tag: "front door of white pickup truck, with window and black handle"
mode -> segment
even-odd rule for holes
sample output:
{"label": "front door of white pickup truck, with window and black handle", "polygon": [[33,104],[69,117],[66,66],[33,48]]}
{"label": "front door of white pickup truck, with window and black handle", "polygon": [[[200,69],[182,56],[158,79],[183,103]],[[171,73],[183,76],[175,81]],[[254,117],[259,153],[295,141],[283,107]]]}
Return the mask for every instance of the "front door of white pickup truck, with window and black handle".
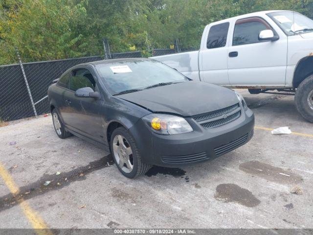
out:
{"label": "front door of white pickup truck, with window and black handle", "polygon": [[[261,41],[262,30],[271,29],[276,41]],[[228,78],[233,86],[284,86],[287,36],[278,34],[261,17],[237,20],[228,47]]]}

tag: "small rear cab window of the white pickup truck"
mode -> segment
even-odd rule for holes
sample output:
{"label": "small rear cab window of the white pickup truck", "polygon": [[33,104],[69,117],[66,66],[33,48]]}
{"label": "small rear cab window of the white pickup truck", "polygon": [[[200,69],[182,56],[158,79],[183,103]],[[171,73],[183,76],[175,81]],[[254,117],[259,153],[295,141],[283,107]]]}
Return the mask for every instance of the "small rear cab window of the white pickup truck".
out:
{"label": "small rear cab window of the white pickup truck", "polygon": [[209,36],[206,41],[208,49],[225,47],[229,23],[213,25],[209,30]]}

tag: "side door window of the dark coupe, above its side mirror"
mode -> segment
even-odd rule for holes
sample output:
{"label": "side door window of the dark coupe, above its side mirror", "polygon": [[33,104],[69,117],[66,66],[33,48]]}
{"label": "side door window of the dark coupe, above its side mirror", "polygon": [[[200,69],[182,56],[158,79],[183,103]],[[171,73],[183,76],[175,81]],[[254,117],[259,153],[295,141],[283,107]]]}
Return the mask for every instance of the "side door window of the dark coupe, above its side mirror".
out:
{"label": "side door window of the dark coupe, above its side mirror", "polygon": [[93,91],[95,91],[96,82],[93,76],[87,69],[74,70],[69,80],[69,90],[75,92],[83,87],[90,87]]}

